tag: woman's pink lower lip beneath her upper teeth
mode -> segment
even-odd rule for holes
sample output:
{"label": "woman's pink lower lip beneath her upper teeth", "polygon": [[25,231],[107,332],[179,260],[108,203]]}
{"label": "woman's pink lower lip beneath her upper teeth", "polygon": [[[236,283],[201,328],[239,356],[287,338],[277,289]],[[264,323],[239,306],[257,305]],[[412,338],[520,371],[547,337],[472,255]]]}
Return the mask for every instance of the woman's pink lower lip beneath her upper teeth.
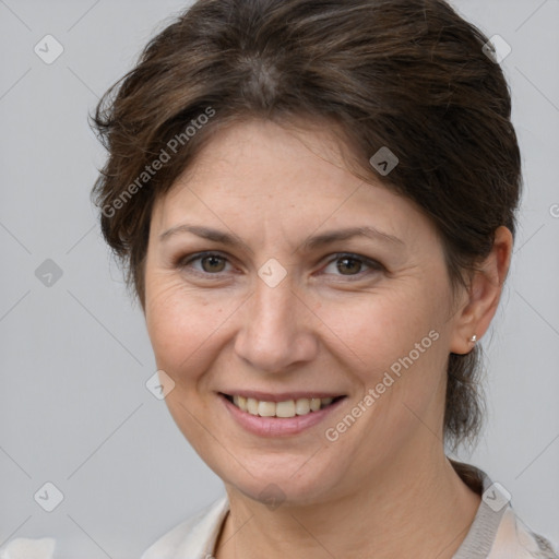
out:
{"label": "woman's pink lower lip beneath her upper teeth", "polygon": [[233,418],[242,428],[261,437],[297,435],[325,419],[345,400],[343,397],[318,412],[310,412],[306,415],[296,415],[295,417],[261,417],[243,412],[225,396],[219,395],[218,397],[225,404]]}

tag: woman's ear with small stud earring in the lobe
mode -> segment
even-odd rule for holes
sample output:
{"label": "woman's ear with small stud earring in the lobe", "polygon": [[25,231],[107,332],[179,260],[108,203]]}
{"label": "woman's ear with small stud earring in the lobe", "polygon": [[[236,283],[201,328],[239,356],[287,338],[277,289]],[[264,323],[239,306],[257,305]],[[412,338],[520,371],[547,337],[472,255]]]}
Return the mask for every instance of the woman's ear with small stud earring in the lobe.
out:
{"label": "woman's ear with small stud earring in the lobe", "polygon": [[502,286],[509,272],[512,234],[501,226],[495,231],[493,248],[473,273],[467,293],[454,314],[450,350],[467,354],[474,347],[472,336],[479,340],[489,328],[499,306]]}

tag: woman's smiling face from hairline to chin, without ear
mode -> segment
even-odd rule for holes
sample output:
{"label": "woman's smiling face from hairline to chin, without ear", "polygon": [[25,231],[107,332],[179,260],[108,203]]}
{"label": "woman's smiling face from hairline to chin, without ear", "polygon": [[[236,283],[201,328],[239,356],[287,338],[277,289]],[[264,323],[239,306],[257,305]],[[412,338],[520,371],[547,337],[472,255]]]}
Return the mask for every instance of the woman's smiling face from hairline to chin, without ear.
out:
{"label": "woman's smiling face from hairline to chin, without ear", "polygon": [[441,452],[452,300],[431,223],[348,173],[328,127],[222,130],[153,211],[145,316],[167,405],[254,499],[342,498]]}

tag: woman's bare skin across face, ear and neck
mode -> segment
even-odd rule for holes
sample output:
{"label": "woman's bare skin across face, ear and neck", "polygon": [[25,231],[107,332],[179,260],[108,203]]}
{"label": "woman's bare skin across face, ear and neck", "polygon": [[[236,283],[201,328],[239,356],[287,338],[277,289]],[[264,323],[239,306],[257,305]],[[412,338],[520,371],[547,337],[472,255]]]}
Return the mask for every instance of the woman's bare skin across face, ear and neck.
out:
{"label": "woman's bare skin across face, ear and neck", "polygon": [[[186,231],[160,238],[182,224],[245,246]],[[400,240],[302,248],[356,225]],[[444,455],[445,364],[489,326],[511,247],[499,228],[471,288],[454,293],[431,222],[380,181],[350,174],[331,127],[251,120],[211,140],[154,206],[144,310],[157,367],[176,383],[168,408],[227,490],[217,559],[452,557],[480,499]],[[186,263],[202,251],[225,260]],[[344,264],[340,252],[382,266]],[[275,287],[258,275],[271,258],[287,272]],[[437,341],[328,440],[325,429],[432,331]],[[236,424],[218,395],[242,389],[346,399],[301,433],[266,438]],[[270,484],[277,508],[266,506]]]}

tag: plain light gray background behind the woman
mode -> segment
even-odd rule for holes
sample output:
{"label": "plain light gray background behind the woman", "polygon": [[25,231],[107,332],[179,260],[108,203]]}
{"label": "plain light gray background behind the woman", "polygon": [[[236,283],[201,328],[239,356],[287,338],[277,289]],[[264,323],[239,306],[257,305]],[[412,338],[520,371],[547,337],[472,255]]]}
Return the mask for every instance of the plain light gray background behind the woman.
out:
{"label": "plain light gray background behind the woman", "polygon": [[[559,544],[559,1],[456,0],[512,46],[526,192],[500,311],[481,344],[489,415],[461,456]],[[104,152],[87,111],[183,1],[0,0],[0,544],[58,538],[58,556],[138,557],[222,493],[221,480],[145,388],[155,365],[141,311],[100,240],[90,190]],[[47,66],[45,35],[64,47]],[[555,214],[555,216],[554,216]],[[35,270],[52,259],[62,277]],[[64,500],[45,512],[34,493]]]}

